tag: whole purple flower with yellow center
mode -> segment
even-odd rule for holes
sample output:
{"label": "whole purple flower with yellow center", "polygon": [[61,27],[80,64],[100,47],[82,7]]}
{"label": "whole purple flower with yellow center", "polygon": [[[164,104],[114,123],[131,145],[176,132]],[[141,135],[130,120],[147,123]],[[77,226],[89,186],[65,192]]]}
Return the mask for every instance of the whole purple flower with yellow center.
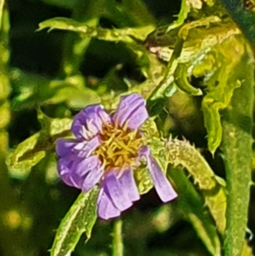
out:
{"label": "whole purple flower with yellow center", "polygon": [[101,105],[86,107],[71,128],[77,139],[57,140],[57,169],[62,181],[83,192],[99,183],[98,215],[103,219],[119,216],[140,199],[133,172],[141,158],[147,162],[161,200],[177,197],[143,139],[140,126],[147,118],[145,100],[133,93],[120,99],[113,114]]}

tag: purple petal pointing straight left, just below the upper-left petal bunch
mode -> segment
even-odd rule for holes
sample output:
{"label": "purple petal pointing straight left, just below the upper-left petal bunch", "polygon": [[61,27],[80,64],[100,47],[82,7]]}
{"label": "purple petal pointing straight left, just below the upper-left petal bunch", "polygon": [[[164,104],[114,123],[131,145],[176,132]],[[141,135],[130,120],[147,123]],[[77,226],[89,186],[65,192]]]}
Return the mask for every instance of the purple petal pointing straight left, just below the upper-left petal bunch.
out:
{"label": "purple petal pointing straight left, just below the upper-left petal bunch", "polygon": [[89,141],[58,139],[56,144],[57,154],[62,158],[74,160],[77,156],[89,156],[100,145],[96,136]]}

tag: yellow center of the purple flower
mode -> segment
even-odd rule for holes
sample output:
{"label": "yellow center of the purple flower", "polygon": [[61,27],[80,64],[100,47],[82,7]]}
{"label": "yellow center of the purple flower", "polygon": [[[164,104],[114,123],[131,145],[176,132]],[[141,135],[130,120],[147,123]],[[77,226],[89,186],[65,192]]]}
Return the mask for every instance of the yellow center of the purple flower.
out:
{"label": "yellow center of the purple flower", "polygon": [[138,151],[143,146],[138,130],[130,131],[115,124],[107,124],[103,126],[100,139],[101,145],[94,153],[99,156],[106,172],[135,167]]}

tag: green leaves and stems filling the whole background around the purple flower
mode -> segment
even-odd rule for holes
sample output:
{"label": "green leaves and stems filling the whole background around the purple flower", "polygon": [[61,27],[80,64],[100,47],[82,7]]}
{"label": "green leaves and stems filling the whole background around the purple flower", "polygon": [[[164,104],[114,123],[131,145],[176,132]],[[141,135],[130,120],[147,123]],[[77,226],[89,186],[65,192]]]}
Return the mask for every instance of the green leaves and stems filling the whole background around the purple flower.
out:
{"label": "green leaves and stems filling the whole background around the purple flower", "polygon": [[[27,2],[8,3],[10,27],[0,1],[0,254],[251,256],[254,65],[226,11],[211,0]],[[112,229],[96,222],[98,186],[77,197],[61,184],[55,142],[73,137],[79,110],[112,112],[133,92],[147,100],[141,132],[178,197],[159,206],[142,162],[134,176],[143,197]]]}

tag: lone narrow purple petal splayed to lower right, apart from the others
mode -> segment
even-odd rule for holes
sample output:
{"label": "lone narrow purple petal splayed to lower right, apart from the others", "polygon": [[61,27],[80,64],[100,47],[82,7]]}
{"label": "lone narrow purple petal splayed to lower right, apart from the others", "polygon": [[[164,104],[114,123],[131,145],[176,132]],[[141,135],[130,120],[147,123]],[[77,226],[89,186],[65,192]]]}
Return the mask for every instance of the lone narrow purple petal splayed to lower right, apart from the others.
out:
{"label": "lone narrow purple petal splayed to lower right, apart from the others", "polygon": [[173,190],[168,179],[164,175],[161,167],[157,163],[156,159],[150,153],[148,147],[143,147],[140,151],[140,154],[145,156],[147,160],[147,166],[150,171],[150,176],[152,177],[152,181],[156,188],[157,194],[163,202],[168,202],[170,200],[175,199],[177,197],[177,193]]}

